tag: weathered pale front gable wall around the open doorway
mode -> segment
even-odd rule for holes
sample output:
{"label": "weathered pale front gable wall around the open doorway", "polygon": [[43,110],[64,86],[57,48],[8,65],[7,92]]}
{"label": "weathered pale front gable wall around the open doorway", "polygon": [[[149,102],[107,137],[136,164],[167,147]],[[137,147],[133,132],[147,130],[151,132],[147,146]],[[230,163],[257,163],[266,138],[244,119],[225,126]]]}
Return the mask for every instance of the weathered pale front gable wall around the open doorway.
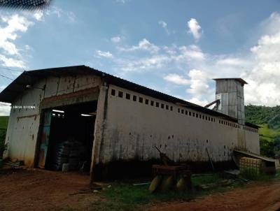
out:
{"label": "weathered pale front gable wall around the open doorway", "polygon": [[[8,151],[5,157],[25,161],[25,165],[34,165],[36,151],[36,141],[41,115],[41,102],[54,96],[64,96],[65,94],[78,93],[92,87],[99,87],[100,78],[93,75],[77,75],[76,77],[49,77],[42,79],[33,87],[44,87],[42,89],[26,89],[12,106],[35,106],[34,109],[10,110],[6,143]],[[79,99],[79,102],[89,99]],[[69,101],[73,103],[73,101]]]}

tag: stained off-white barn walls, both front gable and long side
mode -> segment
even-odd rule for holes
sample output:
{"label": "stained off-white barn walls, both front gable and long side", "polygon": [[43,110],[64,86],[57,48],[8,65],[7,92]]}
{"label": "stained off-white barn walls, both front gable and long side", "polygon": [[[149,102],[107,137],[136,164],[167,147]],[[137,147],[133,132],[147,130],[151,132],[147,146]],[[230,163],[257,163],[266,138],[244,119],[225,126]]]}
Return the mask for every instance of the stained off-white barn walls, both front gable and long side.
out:
{"label": "stained off-white barn walls, both front gable and long side", "polygon": [[[41,89],[28,89],[18,96],[13,106],[35,105],[36,109],[11,110],[6,136],[6,143],[9,145],[6,157],[23,160],[27,166],[33,165],[41,115],[39,106],[44,98],[97,86],[100,87],[100,94],[94,131],[94,163],[106,163],[113,159],[158,159],[159,154],[153,148],[155,145],[161,146],[162,152],[167,153],[174,161],[208,161],[205,147],[214,161],[228,161],[231,159],[230,150],[240,145],[237,137],[241,132],[245,133],[244,140],[248,150],[260,152],[258,133],[244,130],[243,126],[240,129],[227,126],[219,123],[219,120],[225,119],[211,117],[114,85],[109,86],[106,99],[108,87],[101,84],[101,79],[92,75],[60,79],[49,77],[34,85],[46,85],[45,93]],[[112,88],[116,89],[116,96],[111,96]],[[123,92],[123,98],[118,97],[118,91]],[[126,93],[130,94],[130,100],[125,98]],[[132,100],[133,95],[137,96],[137,101]],[[139,103],[139,97],[143,98],[143,103]],[[153,106],[151,101],[154,101]],[[160,103],[159,108],[156,107],[157,102]],[[161,108],[162,104],[165,108]],[[169,106],[168,110],[166,106]],[[170,110],[171,106],[173,110]],[[185,114],[186,110],[188,115]],[[192,113],[191,116],[189,112]],[[36,118],[31,115],[36,115]],[[214,118],[215,122],[206,120],[206,117]]]}

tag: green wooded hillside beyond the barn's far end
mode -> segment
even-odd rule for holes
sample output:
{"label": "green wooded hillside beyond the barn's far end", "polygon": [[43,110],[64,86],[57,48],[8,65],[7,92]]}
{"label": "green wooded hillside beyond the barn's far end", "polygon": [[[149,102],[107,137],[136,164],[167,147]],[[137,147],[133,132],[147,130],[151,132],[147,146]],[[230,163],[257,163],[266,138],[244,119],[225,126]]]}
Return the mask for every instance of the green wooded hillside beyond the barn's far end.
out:
{"label": "green wooded hillside beyond the barn's far end", "polygon": [[280,106],[245,106],[245,117],[260,126],[260,154],[280,157]]}

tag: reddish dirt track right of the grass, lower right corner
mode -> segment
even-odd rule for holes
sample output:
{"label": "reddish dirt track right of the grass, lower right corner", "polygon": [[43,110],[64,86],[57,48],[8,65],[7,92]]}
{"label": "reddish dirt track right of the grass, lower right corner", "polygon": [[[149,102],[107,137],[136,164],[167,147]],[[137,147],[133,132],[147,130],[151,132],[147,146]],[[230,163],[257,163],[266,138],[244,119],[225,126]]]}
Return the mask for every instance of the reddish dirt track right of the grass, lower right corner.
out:
{"label": "reddish dirt track right of the grass, lower right corner", "polygon": [[190,202],[158,203],[149,211],[276,211],[280,210],[280,182],[254,182],[246,188],[197,198]]}

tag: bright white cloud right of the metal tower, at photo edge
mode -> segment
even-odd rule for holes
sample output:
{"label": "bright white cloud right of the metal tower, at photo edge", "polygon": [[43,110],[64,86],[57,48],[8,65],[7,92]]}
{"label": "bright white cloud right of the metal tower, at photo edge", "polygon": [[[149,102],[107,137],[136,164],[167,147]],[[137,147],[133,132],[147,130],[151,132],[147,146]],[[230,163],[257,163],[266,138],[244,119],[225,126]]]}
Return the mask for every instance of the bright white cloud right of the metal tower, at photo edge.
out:
{"label": "bright white cloud right of the metal tower, at photo edge", "polygon": [[280,105],[280,14],[272,13],[265,22],[265,33],[251,48],[253,65],[241,76],[248,82],[247,103],[275,106]]}

